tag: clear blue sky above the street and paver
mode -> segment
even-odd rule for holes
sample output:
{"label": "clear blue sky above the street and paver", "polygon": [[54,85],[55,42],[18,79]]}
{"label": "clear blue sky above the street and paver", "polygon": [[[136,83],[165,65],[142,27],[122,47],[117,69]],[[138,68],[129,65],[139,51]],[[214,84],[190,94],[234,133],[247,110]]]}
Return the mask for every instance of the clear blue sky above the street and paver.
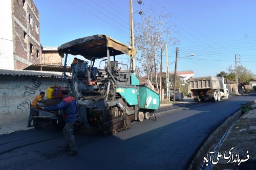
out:
{"label": "clear blue sky above the street and paver", "polygon": [[[33,0],[40,14],[42,46],[60,46],[76,38],[106,34],[129,44],[129,0]],[[239,0],[133,0],[134,20],[138,11],[153,7],[159,13],[170,13],[173,36],[180,44],[168,46],[168,62],[177,70],[193,70],[195,77],[215,76],[234,65],[246,66],[256,74],[256,1]],[[147,15],[145,13],[145,15]],[[165,56],[165,54],[164,54]],[[71,59],[69,60],[71,62]],[[165,59],[163,60],[165,71]],[[139,65],[136,62],[136,65]],[[174,71],[174,64],[169,71]]]}

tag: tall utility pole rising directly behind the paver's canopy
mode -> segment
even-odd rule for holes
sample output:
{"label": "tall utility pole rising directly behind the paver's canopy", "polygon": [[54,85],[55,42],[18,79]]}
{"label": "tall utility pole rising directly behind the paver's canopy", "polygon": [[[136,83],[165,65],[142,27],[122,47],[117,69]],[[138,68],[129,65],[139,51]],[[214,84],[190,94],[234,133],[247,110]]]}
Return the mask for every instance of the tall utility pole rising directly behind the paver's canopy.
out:
{"label": "tall utility pole rising directly behind the paver's canopy", "polygon": [[[129,0],[129,13],[130,13],[130,45],[134,47],[134,31],[133,31],[133,0]],[[131,58],[132,69],[135,75],[135,58]]]}

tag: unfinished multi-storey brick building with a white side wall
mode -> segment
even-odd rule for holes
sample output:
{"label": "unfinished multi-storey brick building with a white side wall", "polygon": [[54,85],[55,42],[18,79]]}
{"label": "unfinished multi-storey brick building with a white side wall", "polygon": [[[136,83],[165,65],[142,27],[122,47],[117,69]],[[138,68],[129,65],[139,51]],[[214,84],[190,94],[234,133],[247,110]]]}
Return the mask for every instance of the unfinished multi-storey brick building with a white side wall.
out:
{"label": "unfinished multi-storey brick building with a white side wall", "polygon": [[39,12],[32,0],[0,1],[0,68],[41,63]]}

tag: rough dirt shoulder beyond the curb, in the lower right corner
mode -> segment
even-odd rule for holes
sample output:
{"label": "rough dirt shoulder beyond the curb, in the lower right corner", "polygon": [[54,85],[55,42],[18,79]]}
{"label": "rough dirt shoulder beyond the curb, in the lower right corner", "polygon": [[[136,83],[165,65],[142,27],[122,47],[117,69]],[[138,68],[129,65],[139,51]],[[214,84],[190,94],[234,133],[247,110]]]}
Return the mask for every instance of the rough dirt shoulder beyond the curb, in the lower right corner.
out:
{"label": "rough dirt shoulder beyond the curb, in the lower right corner", "polygon": [[243,109],[250,110],[240,117],[224,138],[219,151],[216,151],[222,156],[219,161],[216,156],[214,162],[217,163],[212,170],[256,169],[256,104],[249,103]]}

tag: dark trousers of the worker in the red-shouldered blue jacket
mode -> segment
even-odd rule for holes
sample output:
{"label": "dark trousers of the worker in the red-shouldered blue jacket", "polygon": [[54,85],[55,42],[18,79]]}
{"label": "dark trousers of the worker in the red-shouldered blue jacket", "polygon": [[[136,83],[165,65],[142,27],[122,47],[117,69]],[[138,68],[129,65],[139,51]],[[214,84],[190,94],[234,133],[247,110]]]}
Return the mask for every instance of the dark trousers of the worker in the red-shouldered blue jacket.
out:
{"label": "dark trousers of the worker in the red-shouldered blue jacket", "polygon": [[73,134],[74,124],[75,124],[75,122],[66,123],[65,127],[63,128],[64,138],[66,139],[67,143],[69,144],[70,150],[72,152],[77,151],[75,138],[74,138],[74,134]]}

